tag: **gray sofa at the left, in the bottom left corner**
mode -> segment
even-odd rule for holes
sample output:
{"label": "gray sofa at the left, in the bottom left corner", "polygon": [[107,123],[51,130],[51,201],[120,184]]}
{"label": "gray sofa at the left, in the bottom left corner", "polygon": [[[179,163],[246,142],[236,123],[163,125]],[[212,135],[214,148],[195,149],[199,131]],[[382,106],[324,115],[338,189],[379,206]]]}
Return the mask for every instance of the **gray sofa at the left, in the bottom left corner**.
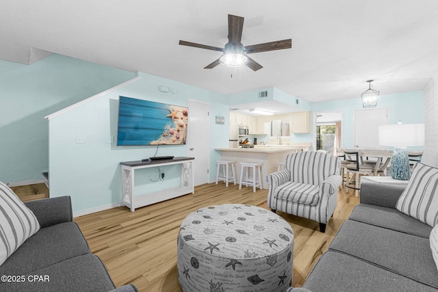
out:
{"label": "gray sofa at the left, in the bottom left corner", "polygon": [[0,291],[138,291],[133,285],[116,289],[73,222],[70,197],[25,205],[36,215],[40,230],[0,266]]}

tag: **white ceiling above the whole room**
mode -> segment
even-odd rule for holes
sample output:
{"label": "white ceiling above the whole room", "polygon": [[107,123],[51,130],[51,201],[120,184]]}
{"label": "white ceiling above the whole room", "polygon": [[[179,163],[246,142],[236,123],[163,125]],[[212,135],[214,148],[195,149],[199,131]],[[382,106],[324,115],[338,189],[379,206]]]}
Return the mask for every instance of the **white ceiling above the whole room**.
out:
{"label": "white ceiling above the whole room", "polygon": [[[274,87],[309,102],[423,90],[438,70],[437,0],[0,0],[0,59],[48,53],[235,94]],[[245,45],[292,38],[250,55],[264,68],[203,69],[227,43],[227,14]],[[233,77],[231,78],[231,74]]]}

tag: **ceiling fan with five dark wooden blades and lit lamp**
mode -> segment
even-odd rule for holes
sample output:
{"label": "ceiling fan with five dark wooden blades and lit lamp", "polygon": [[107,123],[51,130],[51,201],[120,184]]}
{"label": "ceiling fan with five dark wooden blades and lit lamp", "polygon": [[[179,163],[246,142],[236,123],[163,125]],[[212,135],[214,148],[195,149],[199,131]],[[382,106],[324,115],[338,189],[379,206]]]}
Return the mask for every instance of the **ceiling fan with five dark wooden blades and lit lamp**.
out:
{"label": "ceiling fan with five dark wooden blades and lit lamp", "polygon": [[222,57],[205,66],[204,69],[211,69],[219,64],[232,67],[245,64],[248,68],[254,71],[263,68],[263,66],[248,57],[248,54],[292,48],[292,39],[290,38],[288,40],[277,40],[275,42],[265,42],[263,44],[253,44],[244,47],[241,42],[243,27],[243,17],[228,14],[228,43],[225,44],[224,49],[207,46],[205,44],[196,44],[195,42],[186,42],[185,40],[179,40],[179,44],[224,53]]}

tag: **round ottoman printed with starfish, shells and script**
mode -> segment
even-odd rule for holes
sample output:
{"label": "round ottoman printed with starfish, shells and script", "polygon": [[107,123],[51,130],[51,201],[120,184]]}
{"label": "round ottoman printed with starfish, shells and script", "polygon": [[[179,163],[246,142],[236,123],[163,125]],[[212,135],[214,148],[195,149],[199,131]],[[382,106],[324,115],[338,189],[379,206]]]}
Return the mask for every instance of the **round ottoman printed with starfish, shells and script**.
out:
{"label": "round ottoman printed with starfish, shells and script", "polygon": [[178,235],[178,280],[185,292],[286,291],[294,232],[267,209],[222,204],[198,209]]}

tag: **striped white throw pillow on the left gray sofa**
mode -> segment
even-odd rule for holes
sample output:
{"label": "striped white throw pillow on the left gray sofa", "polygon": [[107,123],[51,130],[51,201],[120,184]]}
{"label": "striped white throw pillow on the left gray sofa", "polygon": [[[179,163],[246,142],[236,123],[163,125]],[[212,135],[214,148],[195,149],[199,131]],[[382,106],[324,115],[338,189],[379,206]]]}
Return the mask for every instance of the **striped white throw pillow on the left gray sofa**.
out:
{"label": "striped white throw pillow on the left gray sofa", "polygon": [[0,265],[38,230],[34,213],[0,182]]}

